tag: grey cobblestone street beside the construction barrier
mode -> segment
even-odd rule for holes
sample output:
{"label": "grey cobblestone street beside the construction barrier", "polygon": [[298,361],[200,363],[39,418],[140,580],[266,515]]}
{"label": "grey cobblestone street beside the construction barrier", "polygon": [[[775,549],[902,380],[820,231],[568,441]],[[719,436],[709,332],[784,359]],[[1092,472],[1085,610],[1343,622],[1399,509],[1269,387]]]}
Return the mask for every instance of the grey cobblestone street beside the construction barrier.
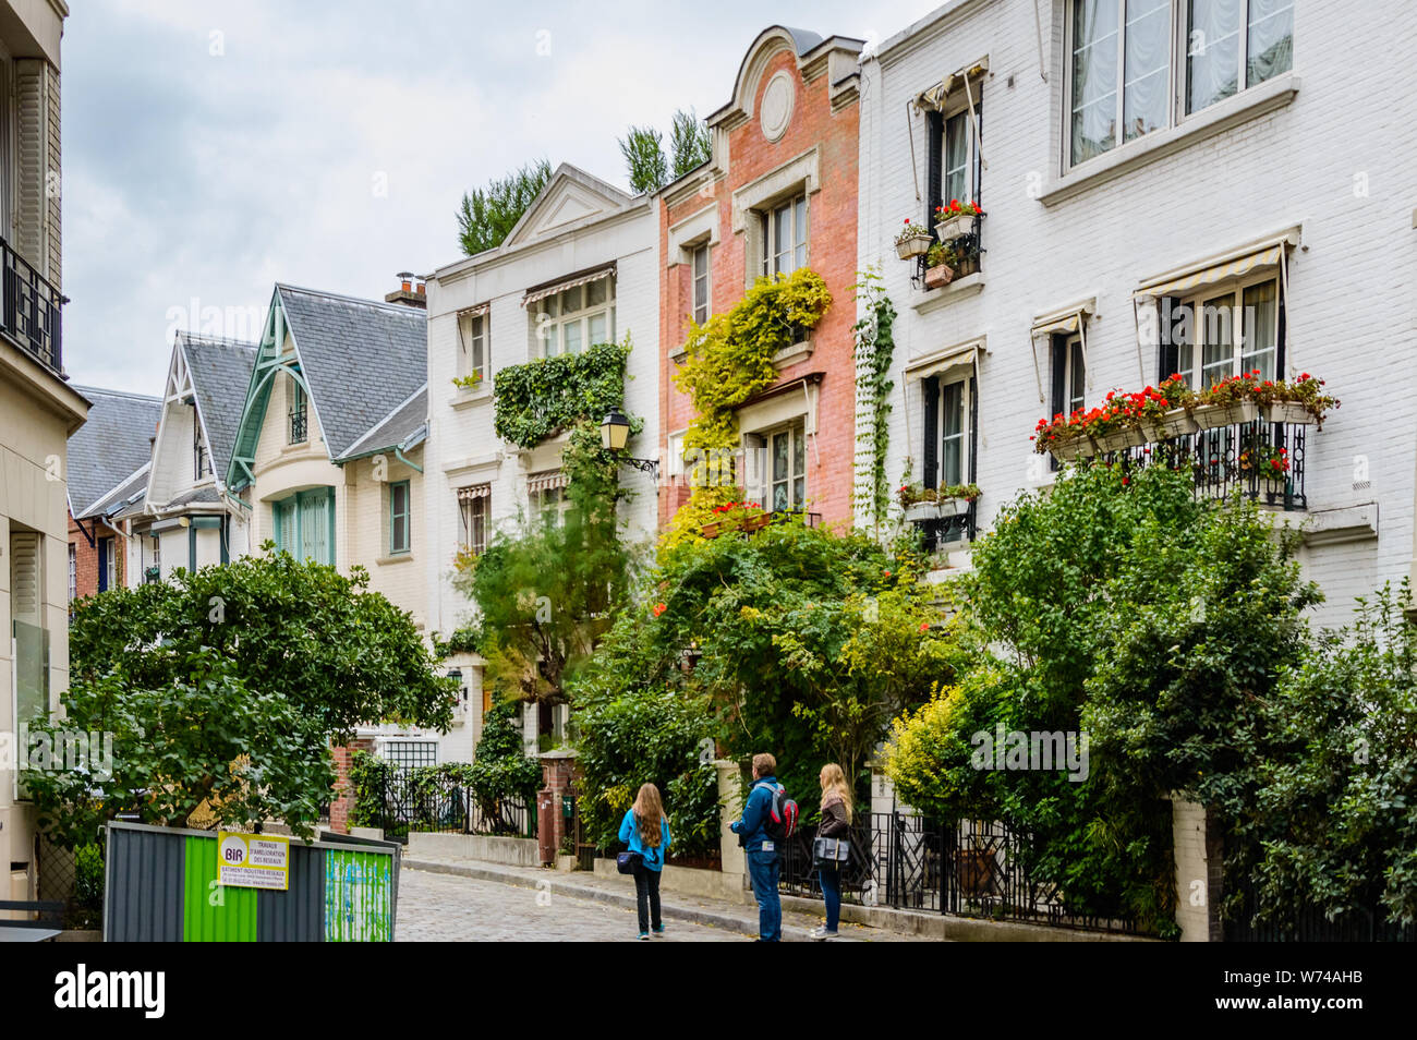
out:
{"label": "grey cobblestone street beside the construction barrier", "polygon": [[[544,888],[404,870],[398,883],[398,942],[611,942],[638,935],[635,911]],[[745,942],[748,937],[666,921],[656,942]]]}

